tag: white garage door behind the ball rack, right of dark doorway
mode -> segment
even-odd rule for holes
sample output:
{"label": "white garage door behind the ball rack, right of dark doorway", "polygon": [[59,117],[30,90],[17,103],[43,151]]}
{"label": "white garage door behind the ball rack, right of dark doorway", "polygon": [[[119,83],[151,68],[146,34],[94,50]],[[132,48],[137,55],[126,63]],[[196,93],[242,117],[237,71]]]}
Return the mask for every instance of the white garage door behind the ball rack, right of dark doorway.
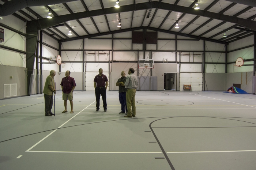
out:
{"label": "white garage door behind the ball rack, right of dark doorway", "polygon": [[180,91],[184,84],[191,84],[191,91],[203,91],[203,73],[180,73]]}

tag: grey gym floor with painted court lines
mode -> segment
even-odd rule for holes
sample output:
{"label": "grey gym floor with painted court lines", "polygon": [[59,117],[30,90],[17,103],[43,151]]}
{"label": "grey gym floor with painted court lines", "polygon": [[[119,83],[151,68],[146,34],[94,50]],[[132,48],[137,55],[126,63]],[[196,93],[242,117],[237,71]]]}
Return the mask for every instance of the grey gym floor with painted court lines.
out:
{"label": "grey gym floor with painted court lines", "polygon": [[55,100],[52,117],[43,94],[0,101],[1,170],[256,169],[256,95],[137,91],[132,118],[118,91],[107,112],[94,91],[74,91],[73,114]]}

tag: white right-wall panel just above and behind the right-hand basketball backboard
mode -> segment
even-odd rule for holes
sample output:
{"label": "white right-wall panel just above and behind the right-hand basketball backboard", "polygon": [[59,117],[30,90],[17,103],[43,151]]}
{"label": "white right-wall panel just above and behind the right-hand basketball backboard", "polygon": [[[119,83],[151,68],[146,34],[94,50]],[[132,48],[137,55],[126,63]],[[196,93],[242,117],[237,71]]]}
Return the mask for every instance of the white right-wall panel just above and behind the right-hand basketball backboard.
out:
{"label": "white right-wall panel just above and behind the right-hand basketball backboard", "polygon": [[250,59],[253,58],[253,54],[253,47],[230,52],[227,53],[227,62],[236,61],[238,57],[242,57],[243,59]]}

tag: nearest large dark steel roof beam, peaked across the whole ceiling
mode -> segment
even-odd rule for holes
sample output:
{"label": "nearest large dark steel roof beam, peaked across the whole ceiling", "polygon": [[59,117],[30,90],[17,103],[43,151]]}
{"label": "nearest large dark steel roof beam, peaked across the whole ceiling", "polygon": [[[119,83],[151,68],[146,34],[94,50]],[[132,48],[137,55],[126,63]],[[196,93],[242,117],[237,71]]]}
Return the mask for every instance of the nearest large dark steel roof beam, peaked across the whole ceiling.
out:
{"label": "nearest large dark steel roof beam, peaked across the whole ceiling", "polygon": [[212,18],[212,19],[218,19],[230,23],[235,23],[239,24],[241,26],[244,26],[246,28],[256,30],[256,21],[251,21],[248,19],[242,19],[242,18],[237,18],[234,16],[229,16],[229,15],[223,15],[223,14],[217,14],[214,12],[209,12],[209,11],[203,11],[203,10],[194,10],[193,8],[189,7],[184,7],[180,5],[174,5],[174,4],[168,4],[168,3],[159,3],[158,1],[153,1],[153,2],[146,2],[146,3],[139,3],[139,4],[131,4],[131,5],[123,5],[120,6],[120,8],[105,8],[100,9],[100,10],[92,10],[92,11],[86,11],[86,12],[78,12],[74,14],[67,14],[67,15],[61,15],[61,16],[55,16],[54,19],[40,19],[40,20],[34,20],[34,21],[29,21],[27,24],[28,26],[36,26],[37,29],[41,30],[41,28],[38,26],[41,24],[42,29],[52,27],[54,25],[67,22],[69,20],[75,20],[75,19],[81,19],[81,18],[89,18],[92,16],[100,16],[104,14],[116,14],[118,12],[129,12],[129,11],[135,11],[135,10],[147,10],[150,8],[159,8],[162,10],[168,10],[168,11],[176,11],[176,12],[182,12],[186,14],[191,14],[191,15],[198,15],[198,16],[204,16],[207,18]]}

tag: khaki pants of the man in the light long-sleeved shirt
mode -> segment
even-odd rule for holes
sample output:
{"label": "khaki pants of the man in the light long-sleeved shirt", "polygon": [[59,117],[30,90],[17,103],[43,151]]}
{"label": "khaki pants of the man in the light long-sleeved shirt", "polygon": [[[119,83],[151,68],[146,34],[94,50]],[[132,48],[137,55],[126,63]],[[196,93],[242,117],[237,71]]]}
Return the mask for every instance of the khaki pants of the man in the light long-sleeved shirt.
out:
{"label": "khaki pants of the man in the light long-sleeved shirt", "polygon": [[126,104],[127,104],[127,116],[136,115],[136,106],[135,106],[135,94],[136,89],[127,89],[126,92]]}

